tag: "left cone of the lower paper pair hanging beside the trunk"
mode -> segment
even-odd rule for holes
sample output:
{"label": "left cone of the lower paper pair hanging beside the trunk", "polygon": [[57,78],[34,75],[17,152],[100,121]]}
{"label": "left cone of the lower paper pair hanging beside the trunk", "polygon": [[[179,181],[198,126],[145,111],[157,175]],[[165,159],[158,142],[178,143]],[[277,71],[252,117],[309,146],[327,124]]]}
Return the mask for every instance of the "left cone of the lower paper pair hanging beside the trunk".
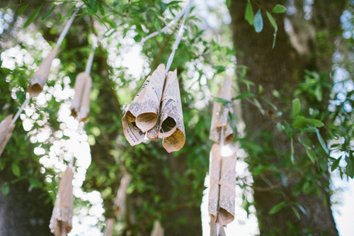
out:
{"label": "left cone of the lower paper pair hanging beside the trunk", "polygon": [[209,202],[208,211],[212,221],[217,220],[217,206],[219,199],[219,177],[221,169],[221,148],[220,145],[215,143],[212,145],[212,150],[210,151],[210,164],[209,164]]}

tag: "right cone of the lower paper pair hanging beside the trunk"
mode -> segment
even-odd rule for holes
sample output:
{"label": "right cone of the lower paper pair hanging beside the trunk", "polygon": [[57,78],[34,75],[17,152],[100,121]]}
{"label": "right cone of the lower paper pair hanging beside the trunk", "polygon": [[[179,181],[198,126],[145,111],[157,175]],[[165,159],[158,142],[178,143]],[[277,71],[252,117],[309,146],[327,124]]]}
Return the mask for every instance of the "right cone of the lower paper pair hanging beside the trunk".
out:
{"label": "right cone of the lower paper pair hanging beside the trunk", "polygon": [[225,226],[234,220],[236,186],[236,152],[229,157],[222,157],[219,180],[219,215],[218,222]]}

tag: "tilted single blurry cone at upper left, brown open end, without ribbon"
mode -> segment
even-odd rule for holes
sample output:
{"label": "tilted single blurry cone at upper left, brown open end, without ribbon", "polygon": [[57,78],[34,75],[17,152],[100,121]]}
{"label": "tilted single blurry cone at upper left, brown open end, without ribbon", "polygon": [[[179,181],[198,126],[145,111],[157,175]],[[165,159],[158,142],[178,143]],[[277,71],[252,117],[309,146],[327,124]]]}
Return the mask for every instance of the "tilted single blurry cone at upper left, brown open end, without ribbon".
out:
{"label": "tilted single blurry cone at upper left, brown open end, without ribbon", "polygon": [[40,64],[40,68],[37,72],[35,72],[32,79],[30,80],[30,85],[28,86],[27,91],[30,93],[31,97],[38,96],[38,94],[40,94],[42,91],[45,82],[47,82],[50,67],[52,67],[52,61],[55,59],[56,55],[57,48],[52,50],[52,52],[50,52],[50,54],[45,57],[45,60],[43,60]]}

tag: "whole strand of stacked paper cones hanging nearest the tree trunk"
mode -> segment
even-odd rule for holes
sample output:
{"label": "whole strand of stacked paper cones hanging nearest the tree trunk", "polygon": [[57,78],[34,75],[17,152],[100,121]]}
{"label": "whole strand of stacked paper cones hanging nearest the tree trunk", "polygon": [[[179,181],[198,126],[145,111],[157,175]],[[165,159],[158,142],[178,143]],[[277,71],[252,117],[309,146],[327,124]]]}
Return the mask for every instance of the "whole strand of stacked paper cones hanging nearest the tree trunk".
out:
{"label": "whole strand of stacked paper cones hanging nearest the tree trunk", "polygon": [[[225,103],[215,101],[212,110],[210,139],[215,141],[210,151],[210,191],[208,210],[211,216],[210,232],[223,235],[224,226],[234,220],[236,152],[224,157],[222,147],[234,139],[234,133],[228,120],[231,111],[232,77],[224,78],[217,91],[217,98]],[[229,101],[227,103],[227,101]],[[211,234],[212,235],[212,234]]]}

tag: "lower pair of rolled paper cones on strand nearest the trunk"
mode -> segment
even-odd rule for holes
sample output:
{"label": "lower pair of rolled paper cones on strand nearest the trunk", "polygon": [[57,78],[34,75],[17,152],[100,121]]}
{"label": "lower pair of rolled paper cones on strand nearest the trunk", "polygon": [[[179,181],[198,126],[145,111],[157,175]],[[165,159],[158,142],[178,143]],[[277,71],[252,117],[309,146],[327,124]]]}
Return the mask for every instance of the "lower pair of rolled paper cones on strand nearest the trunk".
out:
{"label": "lower pair of rolled paper cones on strand nearest the trunk", "polygon": [[212,220],[225,226],[234,220],[236,153],[222,157],[221,147],[212,145],[210,152],[210,192],[208,210]]}

